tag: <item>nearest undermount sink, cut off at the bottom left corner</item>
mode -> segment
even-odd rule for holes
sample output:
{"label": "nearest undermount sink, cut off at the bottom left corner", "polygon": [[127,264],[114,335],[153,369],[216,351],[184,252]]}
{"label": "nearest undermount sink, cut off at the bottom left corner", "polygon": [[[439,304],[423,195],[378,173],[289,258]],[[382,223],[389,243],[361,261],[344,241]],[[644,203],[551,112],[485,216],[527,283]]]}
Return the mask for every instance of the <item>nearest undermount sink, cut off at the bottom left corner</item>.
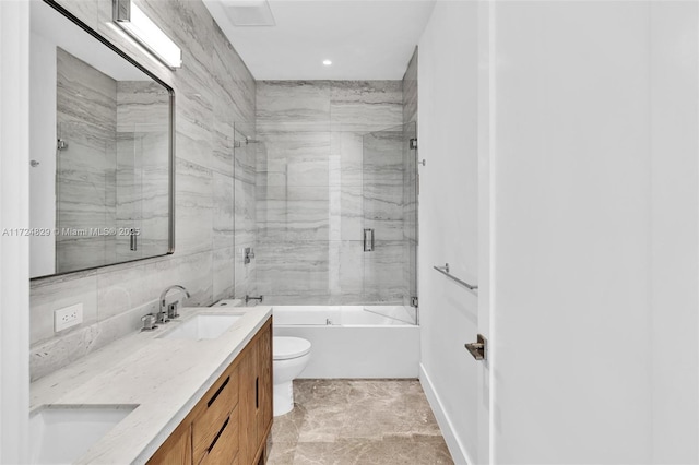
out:
{"label": "nearest undermount sink, cut off at the bottom left corner", "polygon": [[71,464],[125,419],[135,405],[50,405],[29,417],[32,464]]}

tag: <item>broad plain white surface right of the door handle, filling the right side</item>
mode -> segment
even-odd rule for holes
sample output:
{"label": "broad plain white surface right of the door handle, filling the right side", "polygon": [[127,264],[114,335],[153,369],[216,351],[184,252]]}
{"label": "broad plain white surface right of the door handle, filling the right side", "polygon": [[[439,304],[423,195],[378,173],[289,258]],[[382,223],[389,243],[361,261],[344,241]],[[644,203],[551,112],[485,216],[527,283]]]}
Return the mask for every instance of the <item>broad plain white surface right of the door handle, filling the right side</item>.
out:
{"label": "broad plain white surface right of the door handle, filling the right side", "polygon": [[697,12],[496,2],[496,463],[697,463]]}

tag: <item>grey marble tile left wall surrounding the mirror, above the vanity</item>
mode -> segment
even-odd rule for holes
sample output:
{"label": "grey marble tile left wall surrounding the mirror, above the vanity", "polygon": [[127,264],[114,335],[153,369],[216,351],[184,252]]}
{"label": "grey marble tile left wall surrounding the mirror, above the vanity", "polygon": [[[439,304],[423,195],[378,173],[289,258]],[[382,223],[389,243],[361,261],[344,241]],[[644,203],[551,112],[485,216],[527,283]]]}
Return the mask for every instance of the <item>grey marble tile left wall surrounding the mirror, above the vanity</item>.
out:
{"label": "grey marble tile left wall surrounding the mirror, above the vanity", "polygon": [[[235,204],[248,205],[241,239],[254,243],[254,156],[235,153],[234,128],[254,138],[256,82],[199,0],[143,0],[142,9],[182,48],[170,71],[111,27],[111,0],[58,0],[81,21],[168,83],[176,94],[176,251],[173,255],[32,281],[31,375],[38,379],[138,331],[168,285],[186,286],[188,306],[256,294],[256,261],[238,283]],[[250,145],[252,146],[252,145]],[[238,182],[240,181],[240,182]],[[246,199],[247,196],[247,199]],[[237,210],[237,208],[236,208]],[[236,261],[237,265],[237,261]],[[238,286],[239,285],[239,286]],[[56,334],[54,310],[82,303],[81,325]]]}

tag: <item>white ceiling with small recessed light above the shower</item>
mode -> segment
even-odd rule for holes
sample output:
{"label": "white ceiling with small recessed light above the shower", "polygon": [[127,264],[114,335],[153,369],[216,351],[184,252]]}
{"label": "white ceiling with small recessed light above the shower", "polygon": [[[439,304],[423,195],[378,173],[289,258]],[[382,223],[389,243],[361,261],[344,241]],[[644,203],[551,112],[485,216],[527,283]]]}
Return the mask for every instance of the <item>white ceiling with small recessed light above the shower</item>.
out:
{"label": "white ceiling with small recessed light above the shower", "polygon": [[256,80],[400,80],[435,0],[269,0],[273,26],[234,26],[241,1],[204,3]]}

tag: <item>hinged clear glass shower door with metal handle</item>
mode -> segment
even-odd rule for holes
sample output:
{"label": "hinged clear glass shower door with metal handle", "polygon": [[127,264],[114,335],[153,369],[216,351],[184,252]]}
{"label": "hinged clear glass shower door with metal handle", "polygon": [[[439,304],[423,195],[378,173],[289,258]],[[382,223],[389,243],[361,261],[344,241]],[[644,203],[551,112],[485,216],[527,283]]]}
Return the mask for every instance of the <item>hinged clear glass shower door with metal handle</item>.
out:
{"label": "hinged clear glass shower door with metal handle", "polygon": [[365,310],[417,323],[415,123],[363,138]]}

